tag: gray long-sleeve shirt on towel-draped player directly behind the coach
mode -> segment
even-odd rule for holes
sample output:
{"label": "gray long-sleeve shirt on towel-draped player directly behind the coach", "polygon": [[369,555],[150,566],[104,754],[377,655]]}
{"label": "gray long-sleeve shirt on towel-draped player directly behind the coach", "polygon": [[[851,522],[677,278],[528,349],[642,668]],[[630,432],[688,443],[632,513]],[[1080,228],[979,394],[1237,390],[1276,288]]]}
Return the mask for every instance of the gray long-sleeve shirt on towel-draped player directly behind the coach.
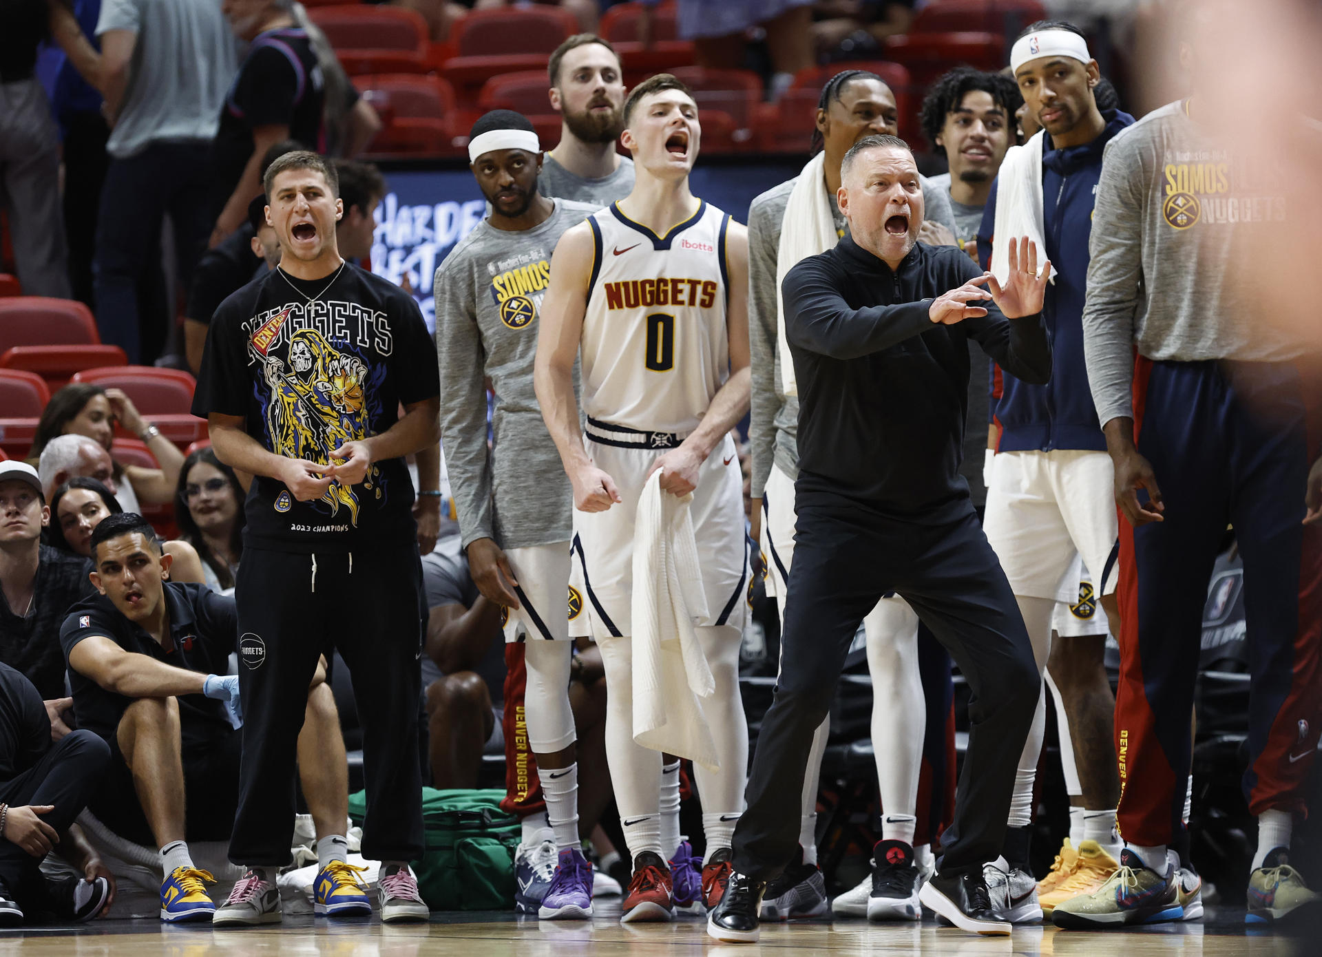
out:
{"label": "gray long-sleeve shirt on towel-draped player directly behind the coach", "polygon": [[[752,497],[760,498],[772,463],[791,478],[798,476],[798,399],[781,391],[780,349],[776,336],[776,260],[780,255],[780,223],[785,218],[796,176],[772,186],[748,208],[748,346],[752,374],[752,411],[748,444],[752,451]],[[923,218],[956,233],[951,197],[944,189],[923,182]],[[845,235],[849,223],[830,197],[836,231]],[[986,430],[984,430],[985,432]]]}

